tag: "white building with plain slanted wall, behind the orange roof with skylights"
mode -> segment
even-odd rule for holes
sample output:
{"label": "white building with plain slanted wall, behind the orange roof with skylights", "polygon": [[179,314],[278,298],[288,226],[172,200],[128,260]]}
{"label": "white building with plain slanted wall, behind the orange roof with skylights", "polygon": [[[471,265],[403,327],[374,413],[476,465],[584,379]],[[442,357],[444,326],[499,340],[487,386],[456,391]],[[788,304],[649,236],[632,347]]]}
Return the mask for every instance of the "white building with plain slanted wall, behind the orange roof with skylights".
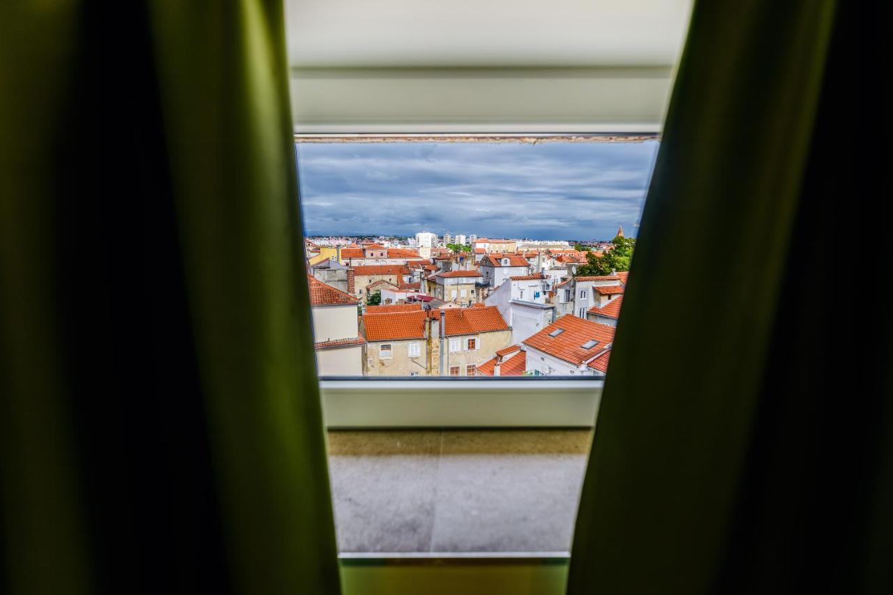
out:
{"label": "white building with plain slanted wall, behind the orange roof with skylights", "polygon": [[547,302],[547,283],[541,275],[510,277],[485,300],[488,306],[497,306],[512,327],[513,343],[520,344],[555,321],[555,306]]}

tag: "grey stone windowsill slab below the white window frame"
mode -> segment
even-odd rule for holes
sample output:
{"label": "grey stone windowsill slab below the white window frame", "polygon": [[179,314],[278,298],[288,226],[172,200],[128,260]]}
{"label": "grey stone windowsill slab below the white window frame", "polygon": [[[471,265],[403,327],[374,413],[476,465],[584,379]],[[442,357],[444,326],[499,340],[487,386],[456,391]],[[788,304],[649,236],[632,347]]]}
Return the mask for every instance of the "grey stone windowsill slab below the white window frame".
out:
{"label": "grey stone windowsill slab below the white window frame", "polygon": [[329,432],[342,559],[566,559],[589,430]]}

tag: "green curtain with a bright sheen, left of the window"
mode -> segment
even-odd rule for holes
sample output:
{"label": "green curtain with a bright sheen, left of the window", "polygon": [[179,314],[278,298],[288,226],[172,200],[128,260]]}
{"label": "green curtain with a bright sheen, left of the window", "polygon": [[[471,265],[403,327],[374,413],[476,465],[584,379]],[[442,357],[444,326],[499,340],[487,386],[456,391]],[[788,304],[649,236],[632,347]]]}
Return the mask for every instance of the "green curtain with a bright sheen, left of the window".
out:
{"label": "green curtain with a bright sheen, left of the window", "polygon": [[329,593],[282,3],[0,8],[0,591]]}

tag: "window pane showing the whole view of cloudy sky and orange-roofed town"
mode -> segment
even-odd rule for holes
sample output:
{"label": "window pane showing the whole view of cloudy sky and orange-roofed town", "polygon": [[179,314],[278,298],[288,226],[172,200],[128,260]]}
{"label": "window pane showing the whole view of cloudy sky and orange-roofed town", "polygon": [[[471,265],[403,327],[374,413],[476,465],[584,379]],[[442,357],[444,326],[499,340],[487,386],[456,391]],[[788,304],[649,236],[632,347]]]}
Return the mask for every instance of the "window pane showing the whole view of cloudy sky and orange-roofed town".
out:
{"label": "window pane showing the whole view of cloudy sky and orange-roofed town", "polygon": [[613,140],[297,143],[321,376],[604,375],[657,148]]}

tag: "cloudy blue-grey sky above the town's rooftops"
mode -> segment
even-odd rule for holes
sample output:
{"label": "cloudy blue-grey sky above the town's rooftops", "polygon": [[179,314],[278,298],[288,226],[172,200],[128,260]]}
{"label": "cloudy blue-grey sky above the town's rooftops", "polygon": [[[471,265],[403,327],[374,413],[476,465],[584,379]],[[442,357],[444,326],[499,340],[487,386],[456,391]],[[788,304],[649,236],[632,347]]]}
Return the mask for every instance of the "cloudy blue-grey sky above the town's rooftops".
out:
{"label": "cloudy blue-grey sky above the town's rooftops", "polygon": [[657,142],[299,144],[307,235],[612,239],[638,229]]}

